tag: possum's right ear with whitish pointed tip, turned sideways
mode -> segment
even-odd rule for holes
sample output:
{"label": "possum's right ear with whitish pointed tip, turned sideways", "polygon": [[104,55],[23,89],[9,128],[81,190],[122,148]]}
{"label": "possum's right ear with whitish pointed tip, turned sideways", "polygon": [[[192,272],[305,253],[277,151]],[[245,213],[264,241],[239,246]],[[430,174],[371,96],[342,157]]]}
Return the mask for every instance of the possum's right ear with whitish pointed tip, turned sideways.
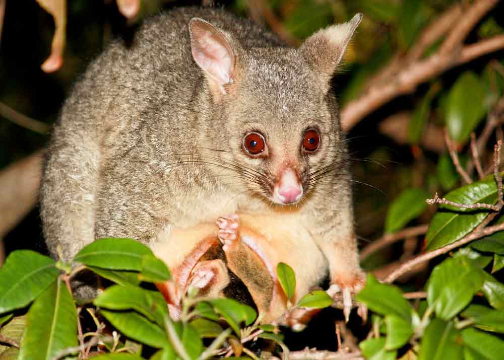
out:
{"label": "possum's right ear with whitish pointed tip, turned sideways", "polygon": [[324,81],[331,80],[361,20],[362,14],[356,14],[348,23],[333,25],[314,33],[299,47],[298,51],[319,71]]}

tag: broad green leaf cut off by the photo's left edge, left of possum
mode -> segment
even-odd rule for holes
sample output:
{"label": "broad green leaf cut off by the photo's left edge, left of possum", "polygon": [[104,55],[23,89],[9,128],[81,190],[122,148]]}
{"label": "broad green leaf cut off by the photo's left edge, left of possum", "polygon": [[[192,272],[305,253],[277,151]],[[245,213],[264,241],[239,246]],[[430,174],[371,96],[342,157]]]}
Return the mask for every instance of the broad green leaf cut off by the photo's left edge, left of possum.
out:
{"label": "broad green leaf cut off by the photo's left edge, left of possum", "polygon": [[51,258],[31,250],[13,251],[0,267],[0,314],[30,304],[58,275]]}

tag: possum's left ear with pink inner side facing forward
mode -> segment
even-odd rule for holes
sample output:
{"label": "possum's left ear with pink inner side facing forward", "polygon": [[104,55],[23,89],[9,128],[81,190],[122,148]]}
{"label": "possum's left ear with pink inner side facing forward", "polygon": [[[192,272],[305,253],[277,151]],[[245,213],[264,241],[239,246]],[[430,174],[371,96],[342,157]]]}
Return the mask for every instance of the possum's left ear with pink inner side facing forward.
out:
{"label": "possum's left ear with pink inner side facing forward", "polygon": [[234,83],[236,54],[229,34],[209,22],[193,18],[189,23],[193,58],[205,71],[212,88],[225,94],[225,86]]}

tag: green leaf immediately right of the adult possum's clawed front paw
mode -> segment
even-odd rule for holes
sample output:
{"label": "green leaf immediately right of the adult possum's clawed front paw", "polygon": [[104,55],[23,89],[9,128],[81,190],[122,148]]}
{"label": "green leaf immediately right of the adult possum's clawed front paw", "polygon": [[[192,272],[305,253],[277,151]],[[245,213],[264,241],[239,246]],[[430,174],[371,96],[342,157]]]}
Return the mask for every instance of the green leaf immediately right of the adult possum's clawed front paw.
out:
{"label": "green leaf immediately right of the adult possum's clawed front paw", "polygon": [[355,298],[378,314],[396,315],[411,323],[413,308],[402,292],[394,285],[378,282],[371,274],[367,275],[366,286]]}

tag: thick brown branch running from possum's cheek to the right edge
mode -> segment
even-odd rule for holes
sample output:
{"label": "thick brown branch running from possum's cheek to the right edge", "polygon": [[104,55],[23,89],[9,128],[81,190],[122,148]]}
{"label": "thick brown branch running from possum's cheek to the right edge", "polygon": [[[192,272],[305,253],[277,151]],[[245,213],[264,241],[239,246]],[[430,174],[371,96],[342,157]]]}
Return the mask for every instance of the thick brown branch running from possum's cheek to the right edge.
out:
{"label": "thick brown branch running from possum's cheek to the right edge", "polygon": [[399,95],[413,92],[419,84],[443,71],[502,48],[504,48],[504,35],[497,35],[464,46],[458,58],[436,53],[425,60],[417,61],[404,68],[387,83],[372,87],[358,99],[349,102],[341,112],[342,126],[345,130],[349,130],[364,116]]}

